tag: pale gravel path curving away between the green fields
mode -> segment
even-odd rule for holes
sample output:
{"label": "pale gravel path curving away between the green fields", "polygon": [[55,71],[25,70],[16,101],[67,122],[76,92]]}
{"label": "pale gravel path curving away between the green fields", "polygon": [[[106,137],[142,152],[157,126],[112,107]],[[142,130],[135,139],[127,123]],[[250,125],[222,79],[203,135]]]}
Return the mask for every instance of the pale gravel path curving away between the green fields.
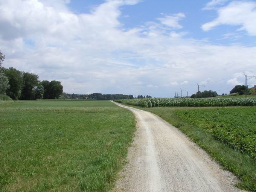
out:
{"label": "pale gravel path curving away between the green fields", "polygon": [[233,186],[235,176],[177,128],[147,111],[116,105],[135,114],[137,133],[115,191],[242,191]]}

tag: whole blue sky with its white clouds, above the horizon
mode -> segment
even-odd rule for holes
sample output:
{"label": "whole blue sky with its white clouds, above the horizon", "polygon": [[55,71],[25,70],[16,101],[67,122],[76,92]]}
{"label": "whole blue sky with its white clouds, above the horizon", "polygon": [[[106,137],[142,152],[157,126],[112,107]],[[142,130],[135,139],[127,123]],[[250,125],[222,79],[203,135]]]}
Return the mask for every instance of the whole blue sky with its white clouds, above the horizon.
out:
{"label": "whole blue sky with its white clouds, above the horizon", "polygon": [[229,93],[256,74],[256,1],[0,0],[0,50],[67,93]]}

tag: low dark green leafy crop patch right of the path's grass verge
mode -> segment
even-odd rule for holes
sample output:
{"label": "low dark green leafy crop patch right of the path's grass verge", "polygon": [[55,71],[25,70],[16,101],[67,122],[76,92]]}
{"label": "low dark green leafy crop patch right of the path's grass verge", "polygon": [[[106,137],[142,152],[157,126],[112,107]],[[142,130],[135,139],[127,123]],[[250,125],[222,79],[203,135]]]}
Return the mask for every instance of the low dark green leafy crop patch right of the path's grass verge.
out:
{"label": "low dark green leafy crop patch right of the path's grass verge", "polygon": [[256,107],[177,110],[180,119],[206,129],[215,139],[227,143],[256,160]]}

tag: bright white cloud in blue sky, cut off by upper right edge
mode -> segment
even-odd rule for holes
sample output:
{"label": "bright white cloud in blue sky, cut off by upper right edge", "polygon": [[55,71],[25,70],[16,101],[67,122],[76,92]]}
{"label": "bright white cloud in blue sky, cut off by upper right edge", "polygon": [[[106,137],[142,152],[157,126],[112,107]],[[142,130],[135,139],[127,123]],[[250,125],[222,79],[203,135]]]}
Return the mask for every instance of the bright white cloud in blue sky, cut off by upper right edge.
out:
{"label": "bright white cloud in blue sky, cut off by upper right edge", "polygon": [[246,30],[248,35],[256,35],[256,2],[233,1],[226,7],[218,9],[218,17],[205,23],[201,28],[205,31],[213,27],[226,24],[241,26],[239,30]]}

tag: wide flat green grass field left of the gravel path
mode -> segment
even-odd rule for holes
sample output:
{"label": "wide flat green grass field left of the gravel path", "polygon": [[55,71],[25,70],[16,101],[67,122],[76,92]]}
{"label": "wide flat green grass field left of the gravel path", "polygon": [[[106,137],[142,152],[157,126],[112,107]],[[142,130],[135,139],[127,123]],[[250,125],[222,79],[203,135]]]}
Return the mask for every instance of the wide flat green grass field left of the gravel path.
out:
{"label": "wide flat green grass field left of the gravel path", "polygon": [[110,190],[135,130],[110,101],[0,105],[0,191]]}

